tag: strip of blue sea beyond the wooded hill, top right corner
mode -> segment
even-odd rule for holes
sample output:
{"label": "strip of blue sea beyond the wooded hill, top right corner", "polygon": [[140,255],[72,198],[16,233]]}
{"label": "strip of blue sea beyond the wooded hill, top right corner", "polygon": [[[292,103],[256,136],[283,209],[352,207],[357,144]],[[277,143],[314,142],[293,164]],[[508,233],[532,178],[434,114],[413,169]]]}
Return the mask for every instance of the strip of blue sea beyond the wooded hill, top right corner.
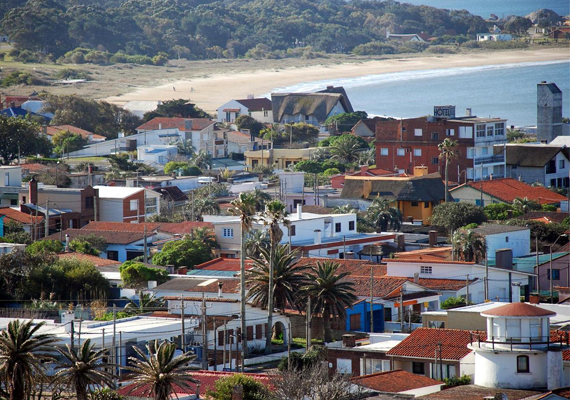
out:
{"label": "strip of blue sea beyond the wooded hill, top right corner", "polygon": [[568,0],[402,0],[400,3],[448,10],[467,10],[483,18],[489,18],[491,14],[496,14],[499,18],[507,15],[524,17],[541,8],[551,9],[562,16],[570,14],[570,1]]}

